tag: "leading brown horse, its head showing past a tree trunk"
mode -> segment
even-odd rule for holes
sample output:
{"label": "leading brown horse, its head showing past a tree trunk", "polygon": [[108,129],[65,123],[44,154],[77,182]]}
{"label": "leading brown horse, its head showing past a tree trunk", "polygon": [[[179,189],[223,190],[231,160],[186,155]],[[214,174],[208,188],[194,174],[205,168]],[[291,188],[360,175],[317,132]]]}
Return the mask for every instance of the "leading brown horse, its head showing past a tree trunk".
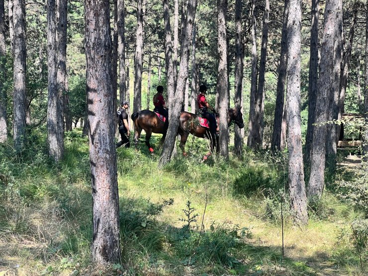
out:
{"label": "leading brown horse, its head showing past a tree trunk", "polygon": [[[216,120],[218,124],[219,118],[216,117]],[[244,127],[243,114],[241,112],[241,107],[239,108],[235,107],[235,108],[228,109],[228,112],[227,112],[228,126],[230,126],[232,121],[234,121],[239,126],[239,128]],[[198,121],[198,116],[193,113],[189,113],[185,111],[182,112],[182,114],[180,115],[178,133],[181,136],[179,146],[182,149],[184,156],[186,156],[185,143],[186,143],[186,140],[188,139],[189,133],[194,135],[195,137],[210,139],[211,151],[213,151],[214,148],[216,148],[216,150],[218,151],[218,147],[216,147],[216,144],[218,144],[218,138],[216,139],[215,137],[213,137],[213,135],[211,135],[211,133],[209,132],[208,128],[201,126]],[[211,155],[211,152],[207,153],[204,156],[204,159],[207,159],[207,157],[210,155]]]}

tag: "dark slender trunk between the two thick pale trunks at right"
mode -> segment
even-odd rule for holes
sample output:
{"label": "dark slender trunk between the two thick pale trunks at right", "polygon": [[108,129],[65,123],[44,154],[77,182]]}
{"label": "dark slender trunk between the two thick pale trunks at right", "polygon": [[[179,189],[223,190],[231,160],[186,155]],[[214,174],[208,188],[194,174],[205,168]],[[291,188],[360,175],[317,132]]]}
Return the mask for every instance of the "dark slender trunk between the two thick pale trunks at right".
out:
{"label": "dark slender trunk between the two thick pale trunks at right", "polygon": [[316,97],[318,91],[318,16],[319,0],[312,0],[311,27],[310,27],[310,57],[309,57],[309,82],[308,82],[308,124],[305,140],[305,160],[310,160],[310,152],[313,139],[314,118],[316,111]]}

